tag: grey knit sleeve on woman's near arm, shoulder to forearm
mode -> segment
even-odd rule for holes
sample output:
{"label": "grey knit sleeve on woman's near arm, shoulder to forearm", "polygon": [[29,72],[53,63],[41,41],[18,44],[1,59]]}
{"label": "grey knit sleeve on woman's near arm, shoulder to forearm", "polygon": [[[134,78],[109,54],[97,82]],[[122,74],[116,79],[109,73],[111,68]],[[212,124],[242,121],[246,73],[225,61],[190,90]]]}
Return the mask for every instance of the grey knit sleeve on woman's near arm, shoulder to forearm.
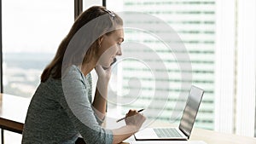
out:
{"label": "grey knit sleeve on woman's near arm, shoulder to forearm", "polygon": [[86,87],[87,82],[81,75],[78,67],[71,66],[61,79],[64,93],[61,106],[87,144],[110,144],[113,142],[112,130],[105,130],[99,125],[101,121],[96,118],[89,100],[90,87]]}

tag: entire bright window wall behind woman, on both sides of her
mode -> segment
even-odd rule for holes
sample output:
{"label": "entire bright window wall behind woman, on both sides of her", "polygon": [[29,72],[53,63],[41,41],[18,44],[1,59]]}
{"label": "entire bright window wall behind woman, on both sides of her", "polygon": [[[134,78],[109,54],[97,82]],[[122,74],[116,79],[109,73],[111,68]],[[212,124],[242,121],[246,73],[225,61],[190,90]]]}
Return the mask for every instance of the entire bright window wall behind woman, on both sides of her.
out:
{"label": "entire bright window wall behind woman, on both sides of her", "polygon": [[[3,92],[31,97],[44,66],[53,58],[73,24],[73,1],[2,0],[2,5]],[[91,5],[102,5],[102,0],[83,0],[84,10]],[[121,60],[124,58],[121,57],[120,63],[113,66],[109,88],[117,95],[109,95],[110,117],[121,117],[130,108],[151,108],[160,115],[145,113],[148,119],[178,122],[189,90],[181,89],[181,84],[195,84],[205,89],[195,127],[256,135],[256,2],[107,0],[107,8],[120,14],[132,11],[152,15],[171,26],[181,39],[179,43],[186,48],[178,53],[186,53],[190,59],[178,62],[192,66],[180,69],[173,51],[166,50],[166,45],[156,37],[165,34],[165,30],[147,32],[125,28],[123,54],[143,55],[144,59]],[[153,22],[126,18],[125,26],[147,26]],[[154,24],[158,26],[157,22]],[[166,66],[156,68],[155,72],[160,75],[167,72],[168,78],[152,75],[147,63],[160,66],[158,62],[162,62],[147,58],[152,51]],[[181,71],[191,74],[192,79],[182,79]],[[96,79],[96,73],[93,78]],[[156,83],[168,83],[170,87],[158,89],[154,87]],[[141,84],[140,89],[137,89],[138,84]],[[168,93],[168,101],[166,103],[166,98],[159,95],[154,107],[148,107],[155,93]],[[181,93],[183,97],[179,99]],[[177,102],[181,104],[179,107]],[[173,112],[177,113],[177,119],[170,117]]]}

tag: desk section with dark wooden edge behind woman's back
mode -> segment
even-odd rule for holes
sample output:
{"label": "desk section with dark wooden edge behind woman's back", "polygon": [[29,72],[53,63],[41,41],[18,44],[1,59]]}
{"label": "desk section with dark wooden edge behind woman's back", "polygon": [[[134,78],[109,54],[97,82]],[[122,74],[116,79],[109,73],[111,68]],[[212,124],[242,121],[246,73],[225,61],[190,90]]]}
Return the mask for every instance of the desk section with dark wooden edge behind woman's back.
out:
{"label": "desk section with dark wooden edge behind woman's back", "polygon": [[0,94],[0,129],[22,134],[26,111],[31,99],[15,95]]}

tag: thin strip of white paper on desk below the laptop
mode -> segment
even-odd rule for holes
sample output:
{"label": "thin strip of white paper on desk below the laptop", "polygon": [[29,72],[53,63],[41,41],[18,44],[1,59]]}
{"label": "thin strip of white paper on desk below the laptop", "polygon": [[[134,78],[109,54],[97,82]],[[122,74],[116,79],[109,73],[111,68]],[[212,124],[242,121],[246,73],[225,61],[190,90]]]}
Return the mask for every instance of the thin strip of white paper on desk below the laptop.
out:
{"label": "thin strip of white paper on desk below the laptop", "polygon": [[207,144],[205,141],[131,141],[130,144]]}

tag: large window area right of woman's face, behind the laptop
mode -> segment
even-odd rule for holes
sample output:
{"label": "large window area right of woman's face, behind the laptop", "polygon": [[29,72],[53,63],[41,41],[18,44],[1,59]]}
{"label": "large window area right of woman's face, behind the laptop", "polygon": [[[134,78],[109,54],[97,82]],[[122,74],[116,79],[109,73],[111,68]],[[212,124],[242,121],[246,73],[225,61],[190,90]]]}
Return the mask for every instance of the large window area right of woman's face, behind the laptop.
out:
{"label": "large window area right of woman's face, behind the laptop", "polygon": [[[221,0],[124,0],[107,1],[107,8],[114,11],[137,11],[152,14],[160,20],[164,20],[172,26],[182,39],[192,65],[193,78],[191,84],[195,84],[206,90],[201,103],[200,112],[195,126],[209,130],[218,130],[237,135],[254,135],[255,123],[255,10],[256,4],[242,1]],[[126,17],[127,18],[127,17]],[[145,25],[150,21],[141,21],[129,18],[125,24]],[[152,22],[152,21],[151,21]],[[158,23],[155,23],[157,26]],[[154,29],[152,27],[152,29]],[[146,34],[145,34],[146,33]],[[161,31],[153,32],[159,34]],[[163,32],[164,33],[164,32]],[[152,35],[151,35],[152,36]],[[124,55],[148,55],[143,51],[143,46],[149,45],[162,60],[166,60],[169,79],[155,79],[148,73],[148,67],[139,65],[136,60],[127,60],[120,65],[121,73],[119,84],[123,95],[116,101],[130,101],[129,104],[117,105],[120,113],[125,114],[129,108],[148,107],[148,101],[156,91],[169,91],[168,104],[157,118],[170,122],[170,113],[177,111],[178,93],[187,89],[178,89],[183,83],[179,77],[180,69],[175,67],[177,61],[172,59],[172,52],[166,51],[159,41],[150,37],[147,32],[125,28],[125,43],[141,43],[138,47],[125,47]],[[149,58],[144,62],[152,61]],[[250,62],[248,62],[250,61]],[[183,63],[186,63],[184,60]],[[248,64],[251,65],[248,65]],[[141,63],[140,63],[141,64]],[[166,69],[159,69],[164,72]],[[142,83],[141,93],[129,94],[129,90],[135,90],[132,79],[137,78]],[[170,89],[155,89],[150,84],[156,81],[164,84],[169,82]],[[122,94],[122,92],[127,92]],[[136,101],[135,101],[136,100]],[[165,99],[154,101],[155,110],[160,109],[166,103]],[[151,107],[152,108],[152,107]],[[182,110],[183,106],[180,107]],[[180,111],[179,110],[179,111]],[[113,112],[114,113],[114,112]],[[148,118],[156,118],[155,115],[147,115]],[[178,119],[177,119],[178,120]]]}

